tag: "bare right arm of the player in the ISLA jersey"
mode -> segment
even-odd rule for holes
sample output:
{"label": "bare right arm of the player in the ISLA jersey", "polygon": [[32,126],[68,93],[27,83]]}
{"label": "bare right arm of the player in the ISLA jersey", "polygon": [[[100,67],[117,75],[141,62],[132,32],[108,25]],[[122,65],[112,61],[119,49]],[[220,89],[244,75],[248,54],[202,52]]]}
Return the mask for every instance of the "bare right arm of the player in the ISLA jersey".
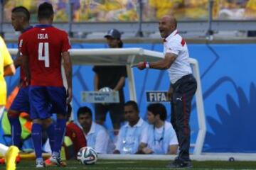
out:
{"label": "bare right arm of the player in the ISLA jersey", "polygon": [[68,84],[67,103],[70,103],[70,101],[72,100],[72,62],[70,59],[69,52],[63,52],[62,56],[63,56],[63,62],[64,62],[65,76]]}

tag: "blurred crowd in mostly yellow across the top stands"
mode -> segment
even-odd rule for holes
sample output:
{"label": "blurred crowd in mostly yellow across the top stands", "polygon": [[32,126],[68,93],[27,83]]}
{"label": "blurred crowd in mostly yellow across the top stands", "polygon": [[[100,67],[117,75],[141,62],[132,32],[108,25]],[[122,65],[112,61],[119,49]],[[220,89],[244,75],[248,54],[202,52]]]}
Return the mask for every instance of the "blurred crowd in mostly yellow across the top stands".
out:
{"label": "blurred crowd in mostly yellow across the top stands", "polygon": [[[49,1],[55,8],[55,21],[68,21],[69,0],[5,0],[4,19],[11,21],[11,8],[23,5],[36,21],[36,8]],[[157,21],[166,14],[178,20],[208,18],[208,0],[70,0],[73,21],[138,21],[139,2],[142,3],[143,21]],[[256,0],[213,0],[215,19],[255,19]]]}

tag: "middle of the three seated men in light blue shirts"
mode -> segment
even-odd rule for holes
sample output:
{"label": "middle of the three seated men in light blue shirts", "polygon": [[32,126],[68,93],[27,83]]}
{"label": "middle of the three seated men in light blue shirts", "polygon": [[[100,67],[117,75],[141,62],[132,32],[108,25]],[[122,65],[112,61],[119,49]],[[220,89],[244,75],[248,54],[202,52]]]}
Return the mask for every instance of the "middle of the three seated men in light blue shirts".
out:
{"label": "middle of the three seated men in light blue shirts", "polygon": [[139,108],[135,101],[124,104],[124,118],[127,123],[119,130],[114,154],[137,154],[142,131],[146,130],[148,123],[139,118]]}

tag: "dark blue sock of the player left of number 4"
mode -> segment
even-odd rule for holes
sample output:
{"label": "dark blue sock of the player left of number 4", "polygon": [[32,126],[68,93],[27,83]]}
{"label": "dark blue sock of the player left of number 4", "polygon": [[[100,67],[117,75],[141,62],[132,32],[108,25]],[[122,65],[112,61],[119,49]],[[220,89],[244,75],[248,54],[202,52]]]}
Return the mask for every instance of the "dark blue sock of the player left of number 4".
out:
{"label": "dark blue sock of the player left of number 4", "polygon": [[18,115],[8,116],[11,124],[11,139],[12,144],[16,147],[21,147],[21,123],[18,119]]}

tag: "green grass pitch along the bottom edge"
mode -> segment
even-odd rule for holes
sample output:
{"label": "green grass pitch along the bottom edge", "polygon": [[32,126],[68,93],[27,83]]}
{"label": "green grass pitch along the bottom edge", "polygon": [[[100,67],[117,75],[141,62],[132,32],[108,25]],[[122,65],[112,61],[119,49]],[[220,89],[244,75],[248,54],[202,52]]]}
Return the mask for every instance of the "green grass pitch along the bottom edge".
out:
{"label": "green grass pitch along the bottom edge", "polygon": [[[17,169],[36,169],[35,161],[22,160],[18,164]],[[168,161],[138,161],[138,160],[98,160],[93,165],[82,165],[78,161],[69,160],[66,167],[47,167],[46,169],[119,169],[119,170],[167,170],[166,165]],[[0,169],[4,169],[3,165],[0,165]],[[256,162],[195,162],[193,161],[193,169],[256,169]]]}

